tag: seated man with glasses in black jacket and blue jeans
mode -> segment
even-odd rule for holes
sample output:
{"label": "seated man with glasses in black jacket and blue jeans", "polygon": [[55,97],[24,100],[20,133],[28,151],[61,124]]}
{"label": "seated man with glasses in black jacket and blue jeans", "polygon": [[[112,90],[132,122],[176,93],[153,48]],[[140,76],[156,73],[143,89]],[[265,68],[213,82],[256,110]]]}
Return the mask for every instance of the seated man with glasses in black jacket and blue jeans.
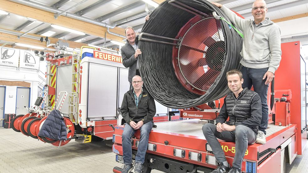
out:
{"label": "seated man with glasses in black jacket and blue jeans", "polygon": [[142,88],[143,81],[135,75],[132,79],[133,89],[124,94],[121,112],[126,124],[122,134],[123,161],[122,173],[133,170],[131,139],[140,130],[140,140],[135,157],[135,173],[141,173],[145,153],[148,149],[149,134],[152,130],[152,119],[156,113],[153,97]]}

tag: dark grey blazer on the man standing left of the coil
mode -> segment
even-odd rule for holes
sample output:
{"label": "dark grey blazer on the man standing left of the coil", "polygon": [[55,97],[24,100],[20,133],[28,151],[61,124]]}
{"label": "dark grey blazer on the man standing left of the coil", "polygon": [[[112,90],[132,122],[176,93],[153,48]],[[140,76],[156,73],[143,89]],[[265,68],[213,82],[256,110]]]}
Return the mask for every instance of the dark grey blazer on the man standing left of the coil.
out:
{"label": "dark grey blazer on the man standing left of the coil", "polygon": [[[138,37],[139,35],[137,35],[135,39],[136,45],[138,45]],[[135,59],[135,52],[133,46],[126,40],[125,45],[121,48],[121,54],[124,67],[128,68],[128,82],[132,82],[133,77],[136,75],[138,58]]]}

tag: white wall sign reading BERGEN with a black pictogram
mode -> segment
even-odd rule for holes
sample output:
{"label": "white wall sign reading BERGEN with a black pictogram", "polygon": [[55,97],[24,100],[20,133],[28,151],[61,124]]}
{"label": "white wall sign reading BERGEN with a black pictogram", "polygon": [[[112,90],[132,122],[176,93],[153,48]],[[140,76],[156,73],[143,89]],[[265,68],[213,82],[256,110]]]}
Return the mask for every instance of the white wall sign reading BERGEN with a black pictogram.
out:
{"label": "white wall sign reading BERGEN with a black pictogram", "polygon": [[39,57],[32,51],[20,50],[19,67],[27,69],[39,69]]}

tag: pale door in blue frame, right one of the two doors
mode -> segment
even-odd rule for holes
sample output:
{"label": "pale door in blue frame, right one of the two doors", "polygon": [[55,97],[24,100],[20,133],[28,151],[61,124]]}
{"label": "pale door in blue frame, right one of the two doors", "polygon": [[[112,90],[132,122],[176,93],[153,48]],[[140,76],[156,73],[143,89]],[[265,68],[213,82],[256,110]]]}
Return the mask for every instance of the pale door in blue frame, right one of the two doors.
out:
{"label": "pale door in blue frame, right one of the two doors", "polygon": [[[30,88],[17,87],[16,115],[28,114]],[[25,106],[27,108],[25,108]]]}

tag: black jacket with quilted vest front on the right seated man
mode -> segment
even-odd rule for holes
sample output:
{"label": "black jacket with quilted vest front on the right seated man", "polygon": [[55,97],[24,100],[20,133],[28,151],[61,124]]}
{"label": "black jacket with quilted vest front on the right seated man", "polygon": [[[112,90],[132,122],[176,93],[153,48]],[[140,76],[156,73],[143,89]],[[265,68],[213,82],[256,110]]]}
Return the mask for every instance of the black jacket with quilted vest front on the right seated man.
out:
{"label": "black jacket with quilted vest front on the right seated man", "polygon": [[256,92],[244,88],[236,98],[231,91],[224,99],[216,123],[224,123],[228,117],[230,119],[226,122],[227,125],[244,125],[257,134],[262,117],[260,96]]}

